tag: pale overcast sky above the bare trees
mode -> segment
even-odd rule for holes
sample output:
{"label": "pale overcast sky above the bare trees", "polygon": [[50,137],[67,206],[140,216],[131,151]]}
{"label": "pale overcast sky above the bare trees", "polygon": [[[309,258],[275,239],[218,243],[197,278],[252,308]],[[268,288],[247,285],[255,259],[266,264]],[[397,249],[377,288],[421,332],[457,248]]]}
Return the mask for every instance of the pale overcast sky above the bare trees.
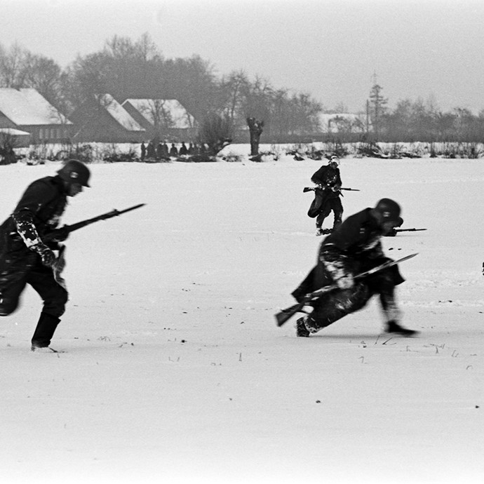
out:
{"label": "pale overcast sky above the bare trees", "polygon": [[484,109],[484,0],[0,0],[0,44],[65,67],[112,36],[165,58],[259,75],[325,107],[363,109],[376,74],[394,107]]}

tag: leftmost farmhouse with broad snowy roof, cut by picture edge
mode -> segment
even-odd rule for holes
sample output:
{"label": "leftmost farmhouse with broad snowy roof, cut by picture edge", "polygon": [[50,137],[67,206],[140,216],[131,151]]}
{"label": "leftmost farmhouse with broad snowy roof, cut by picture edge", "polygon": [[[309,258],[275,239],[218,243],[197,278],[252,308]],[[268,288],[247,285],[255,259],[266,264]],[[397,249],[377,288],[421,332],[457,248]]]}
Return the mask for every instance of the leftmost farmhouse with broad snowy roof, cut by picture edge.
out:
{"label": "leftmost farmhouse with broad snowy roof, cut by picture edge", "polygon": [[[35,89],[0,88],[0,128],[23,132],[17,145],[29,143],[65,142],[72,130],[72,122],[55,109]],[[25,132],[29,137],[25,136]]]}

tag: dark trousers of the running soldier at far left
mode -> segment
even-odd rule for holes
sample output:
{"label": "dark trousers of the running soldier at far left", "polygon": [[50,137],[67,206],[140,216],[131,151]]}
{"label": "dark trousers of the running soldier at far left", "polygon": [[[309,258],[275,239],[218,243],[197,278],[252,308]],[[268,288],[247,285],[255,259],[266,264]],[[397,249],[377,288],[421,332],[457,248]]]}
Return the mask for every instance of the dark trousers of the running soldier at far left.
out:
{"label": "dark trousers of the running soldier at far left", "polygon": [[25,272],[6,278],[0,286],[0,316],[8,316],[17,309],[25,285],[29,284],[43,300],[42,312],[60,318],[65,312],[68,300],[67,290],[55,281],[53,271],[39,260]]}

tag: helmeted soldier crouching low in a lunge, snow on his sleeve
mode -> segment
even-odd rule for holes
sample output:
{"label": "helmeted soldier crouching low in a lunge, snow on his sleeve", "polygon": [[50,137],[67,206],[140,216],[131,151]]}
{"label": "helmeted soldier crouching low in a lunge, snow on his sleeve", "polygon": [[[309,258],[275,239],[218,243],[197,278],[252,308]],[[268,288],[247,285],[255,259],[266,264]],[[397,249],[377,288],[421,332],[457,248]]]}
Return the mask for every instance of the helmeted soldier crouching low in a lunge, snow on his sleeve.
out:
{"label": "helmeted soldier crouching low in a lunge, snow on his sleeve", "polygon": [[399,323],[395,286],[405,279],[398,271],[398,265],[354,281],[356,274],[391,260],[385,257],[380,238],[400,222],[400,211],[396,201],[381,199],[375,208],[365,208],[351,215],[325,237],[316,267],[293,292],[293,296],[301,302],[304,295],[325,285],[336,284],[339,289],[311,303],[314,308],[311,314],[297,320],[297,336],[309,337],[311,333],[363,308],[373,295],[379,296],[386,332],[404,336],[417,334]]}

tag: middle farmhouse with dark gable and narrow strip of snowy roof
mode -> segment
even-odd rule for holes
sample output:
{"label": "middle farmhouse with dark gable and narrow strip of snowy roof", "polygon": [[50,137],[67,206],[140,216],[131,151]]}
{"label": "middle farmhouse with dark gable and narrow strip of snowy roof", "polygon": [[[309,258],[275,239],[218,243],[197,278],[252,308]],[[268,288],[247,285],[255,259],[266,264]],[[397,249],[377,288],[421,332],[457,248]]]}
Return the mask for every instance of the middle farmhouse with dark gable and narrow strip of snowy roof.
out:
{"label": "middle farmhouse with dark gable and narrow strip of snowy roof", "polygon": [[140,123],[110,94],[93,96],[69,118],[76,126],[74,142],[137,143],[147,136]]}

